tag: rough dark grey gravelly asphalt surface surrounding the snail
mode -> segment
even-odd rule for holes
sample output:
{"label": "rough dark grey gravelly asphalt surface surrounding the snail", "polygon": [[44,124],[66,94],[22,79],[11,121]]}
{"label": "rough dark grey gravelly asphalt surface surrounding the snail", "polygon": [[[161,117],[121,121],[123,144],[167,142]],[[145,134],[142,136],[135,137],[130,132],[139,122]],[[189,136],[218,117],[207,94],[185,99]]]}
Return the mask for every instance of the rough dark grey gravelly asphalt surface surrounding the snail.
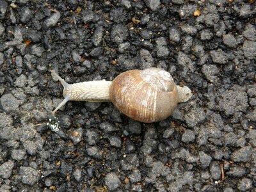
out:
{"label": "rough dark grey gravelly asphalt surface surrounding the snail", "polygon": [[[0,191],[253,191],[255,1],[0,1]],[[159,67],[193,90],[154,124],[68,83]]]}

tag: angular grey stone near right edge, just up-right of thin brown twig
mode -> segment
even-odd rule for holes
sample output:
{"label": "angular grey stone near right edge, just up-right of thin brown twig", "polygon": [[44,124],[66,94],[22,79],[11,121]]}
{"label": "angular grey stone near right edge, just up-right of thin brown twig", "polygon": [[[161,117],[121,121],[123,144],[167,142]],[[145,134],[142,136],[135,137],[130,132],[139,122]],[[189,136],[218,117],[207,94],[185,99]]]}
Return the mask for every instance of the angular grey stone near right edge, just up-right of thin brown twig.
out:
{"label": "angular grey stone near right edge, just up-right of thin brown twig", "polygon": [[246,146],[233,152],[231,154],[231,159],[234,162],[238,162],[238,163],[247,162],[249,161],[251,154],[252,154],[252,147]]}

